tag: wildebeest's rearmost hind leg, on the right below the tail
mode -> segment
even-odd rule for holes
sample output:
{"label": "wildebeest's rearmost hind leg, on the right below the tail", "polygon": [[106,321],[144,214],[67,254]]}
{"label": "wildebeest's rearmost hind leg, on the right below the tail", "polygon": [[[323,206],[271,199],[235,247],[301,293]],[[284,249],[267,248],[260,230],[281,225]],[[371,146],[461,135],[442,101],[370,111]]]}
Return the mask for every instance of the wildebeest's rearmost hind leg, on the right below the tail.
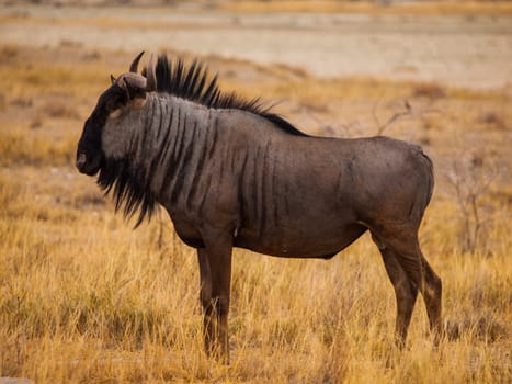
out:
{"label": "wildebeest's rearmost hind leg, on the right below the tail", "polygon": [[386,248],[389,248],[396,256],[396,260],[407,273],[410,284],[421,292],[426,306],[430,328],[434,334],[434,343],[437,345],[442,334],[442,282],[421,252],[417,231],[401,230],[398,236],[387,236],[383,241]]}

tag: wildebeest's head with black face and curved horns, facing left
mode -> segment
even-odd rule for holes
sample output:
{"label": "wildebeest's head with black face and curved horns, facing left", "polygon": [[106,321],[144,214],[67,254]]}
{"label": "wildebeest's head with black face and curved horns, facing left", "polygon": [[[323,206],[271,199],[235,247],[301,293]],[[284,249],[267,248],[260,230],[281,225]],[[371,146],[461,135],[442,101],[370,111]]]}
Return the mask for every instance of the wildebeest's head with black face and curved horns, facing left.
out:
{"label": "wildebeest's head with black face and curved horns, facing left", "polygon": [[[128,115],[145,104],[146,93],[156,89],[152,55],[146,76],[137,74],[138,63],[144,52],[134,59],[129,72],[115,79],[99,98],[96,106],[86,121],[77,149],[77,168],[81,173],[93,176],[102,168],[106,157],[118,158],[125,155]],[[133,118],[133,116],[132,116]]]}

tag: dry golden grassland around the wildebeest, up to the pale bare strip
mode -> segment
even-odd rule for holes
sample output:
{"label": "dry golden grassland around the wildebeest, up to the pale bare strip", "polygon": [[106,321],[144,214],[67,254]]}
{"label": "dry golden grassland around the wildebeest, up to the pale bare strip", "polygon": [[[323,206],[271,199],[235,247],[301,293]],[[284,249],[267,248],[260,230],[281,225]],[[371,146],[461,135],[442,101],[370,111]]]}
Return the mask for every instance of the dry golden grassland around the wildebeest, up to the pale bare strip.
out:
{"label": "dry golden grassland around the wildebeest, up to the pale bare strip", "polygon": [[444,283],[445,339],[432,348],[420,298],[407,348],[397,351],[392,287],[367,236],[329,261],[236,250],[225,366],[202,351],[196,256],[167,214],[133,230],[73,168],[84,118],[109,75],[125,71],[135,54],[66,41],[0,45],[0,377],[512,380],[510,84],[317,78],[294,66],[204,56],[224,89],[280,101],[275,111],[307,133],[421,144],[436,190],[420,238]]}

